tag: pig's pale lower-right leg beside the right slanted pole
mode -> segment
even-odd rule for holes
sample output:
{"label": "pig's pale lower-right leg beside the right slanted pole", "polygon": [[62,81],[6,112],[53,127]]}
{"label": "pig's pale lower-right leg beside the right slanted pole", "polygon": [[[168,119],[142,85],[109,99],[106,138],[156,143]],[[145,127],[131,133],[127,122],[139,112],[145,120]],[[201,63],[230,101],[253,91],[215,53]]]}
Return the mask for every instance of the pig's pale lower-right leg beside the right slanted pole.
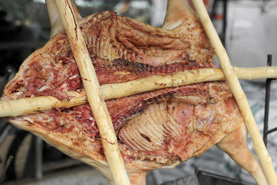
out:
{"label": "pig's pale lower-right leg beside the right slanted pole", "polygon": [[267,184],[260,163],[247,146],[247,128],[244,124],[239,130],[226,136],[217,146],[224,150],[244,170],[247,170],[258,184]]}

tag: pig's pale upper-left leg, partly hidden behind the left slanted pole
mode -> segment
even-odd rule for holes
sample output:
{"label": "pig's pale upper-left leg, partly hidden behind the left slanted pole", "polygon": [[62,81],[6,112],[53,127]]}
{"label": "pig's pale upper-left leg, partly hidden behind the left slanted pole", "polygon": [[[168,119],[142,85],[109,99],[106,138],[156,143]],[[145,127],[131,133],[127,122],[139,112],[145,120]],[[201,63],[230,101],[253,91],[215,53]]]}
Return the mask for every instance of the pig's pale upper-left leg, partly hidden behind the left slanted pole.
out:
{"label": "pig's pale upper-left leg, partly hidden behind the left slanted pole", "polygon": [[[47,6],[48,15],[49,15],[50,24],[51,24],[50,38],[52,38],[57,33],[63,32],[64,26],[62,25],[62,20],[60,19],[59,12],[57,11],[55,0],[45,0],[45,1],[46,1],[46,6]],[[82,19],[82,16],[80,15],[80,12],[78,11],[75,4],[72,1],[71,1],[71,4],[73,7],[73,11],[75,13],[76,19],[77,20]]]}

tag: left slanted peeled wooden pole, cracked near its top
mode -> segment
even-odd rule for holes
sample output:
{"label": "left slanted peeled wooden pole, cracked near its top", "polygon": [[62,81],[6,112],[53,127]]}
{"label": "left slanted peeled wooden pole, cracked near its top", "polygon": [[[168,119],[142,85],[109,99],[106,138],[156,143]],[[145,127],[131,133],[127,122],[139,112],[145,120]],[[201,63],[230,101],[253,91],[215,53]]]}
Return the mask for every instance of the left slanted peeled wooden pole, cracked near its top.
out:
{"label": "left slanted peeled wooden pole, cracked near its top", "polygon": [[100,92],[99,82],[94,71],[87,46],[82,37],[78,21],[69,0],[55,0],[62,24],[69,38],[74,58],[82,76],[82,82],[93,116],[99,128],[105,157],[114,177],[115,184],[130,184],[125,170],[124,161],[118,148],[116,134],[111,122],[104,99]]}

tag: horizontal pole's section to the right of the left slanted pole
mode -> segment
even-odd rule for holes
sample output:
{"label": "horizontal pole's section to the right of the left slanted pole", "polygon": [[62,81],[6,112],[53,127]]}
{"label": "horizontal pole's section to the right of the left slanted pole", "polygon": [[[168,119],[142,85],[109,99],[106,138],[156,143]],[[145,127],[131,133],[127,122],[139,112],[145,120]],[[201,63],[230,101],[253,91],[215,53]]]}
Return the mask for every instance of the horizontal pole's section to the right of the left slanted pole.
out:
{"label": "horizontal pole's section to the right of the left slanted pole", "polygon": [[[253,80],[259,78],[277,78],[277,67],[235,68],[238,78]],[[226,80],[221,69],[206,68],[181,71],[166,76],[150,76],[129,82],[102,85],[101,91],[105,100],[122,98],[147,91],[180,87],[199,82]]]}

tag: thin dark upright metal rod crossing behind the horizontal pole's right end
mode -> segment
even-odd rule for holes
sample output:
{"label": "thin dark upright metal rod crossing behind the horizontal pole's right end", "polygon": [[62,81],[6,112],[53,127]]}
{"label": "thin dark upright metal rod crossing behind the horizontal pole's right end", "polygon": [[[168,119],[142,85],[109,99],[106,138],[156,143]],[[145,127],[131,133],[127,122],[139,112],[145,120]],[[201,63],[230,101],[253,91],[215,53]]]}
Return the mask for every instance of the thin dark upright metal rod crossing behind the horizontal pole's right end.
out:
{"label": "thin dark upright metal rod crossing behind the horizontal pole's right end", "polygon": [[[271,65],[272,65],[272,55],[267,55],[267,66],[271,66]],[[264,134],[263,134],[263,140],[265,142],[265,146],[267,146],[271,80],[272,80],[271,78],[267,78],[267,82],[265,86],[265,118],[264,118]]]}

